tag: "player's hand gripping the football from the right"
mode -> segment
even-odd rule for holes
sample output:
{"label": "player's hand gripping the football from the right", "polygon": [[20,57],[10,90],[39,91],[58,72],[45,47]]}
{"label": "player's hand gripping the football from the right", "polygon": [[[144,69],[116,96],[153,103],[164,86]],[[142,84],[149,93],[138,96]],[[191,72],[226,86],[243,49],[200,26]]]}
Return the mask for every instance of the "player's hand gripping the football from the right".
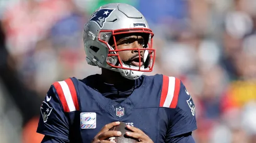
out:
{"label": "player's hand gripping the football from the right", "polygon": [[138,129],[136,127],[126,125],[127,128],[129,128],[132,132],[126,132],[125,134],[127,136],[137,138],[140,143],[154,143],[152,139],[150,139],[144,132],[141,131],[141,129]]}

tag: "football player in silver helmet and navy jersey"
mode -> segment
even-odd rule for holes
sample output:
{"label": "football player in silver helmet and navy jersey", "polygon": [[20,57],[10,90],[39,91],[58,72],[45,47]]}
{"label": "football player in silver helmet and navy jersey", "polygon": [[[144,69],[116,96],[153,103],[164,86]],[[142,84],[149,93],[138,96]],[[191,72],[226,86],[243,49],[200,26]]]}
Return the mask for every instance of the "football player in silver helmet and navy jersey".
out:
{"label": "football player in silver helmet and navy jersey", "polygon": [[125,122],[127,136],[141,142],[194,142],[194,102],[176,77],[153,70],[153,32],[127,4],[107,4],[84,25],[86,60],[101,74],[51,85],[41,105],[37,132],[42,142],[110,142],[109,131]]}

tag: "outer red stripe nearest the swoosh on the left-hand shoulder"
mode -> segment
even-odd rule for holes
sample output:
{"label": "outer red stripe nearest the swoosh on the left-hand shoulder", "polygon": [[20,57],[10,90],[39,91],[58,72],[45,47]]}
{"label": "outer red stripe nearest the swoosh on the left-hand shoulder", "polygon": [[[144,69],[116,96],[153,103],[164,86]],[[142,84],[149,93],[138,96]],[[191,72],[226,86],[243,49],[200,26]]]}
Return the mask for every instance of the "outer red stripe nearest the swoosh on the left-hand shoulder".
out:
{"label": "outer red stripe nearest the swoosh on the left-hand shoulder", "polygon": [[62,87],[61,87],[60,83],[55,82],[55,83],[53,83],[53,86],[55,87],[56,92],[57,92],[57,94],[60,98],[60,101],[61,101],[64,112],[69,112],[70,110],[67,106],[67,101],[66,101],[66,98],[65,98],[65,95],[63,93],[63,90],[62,90]]}

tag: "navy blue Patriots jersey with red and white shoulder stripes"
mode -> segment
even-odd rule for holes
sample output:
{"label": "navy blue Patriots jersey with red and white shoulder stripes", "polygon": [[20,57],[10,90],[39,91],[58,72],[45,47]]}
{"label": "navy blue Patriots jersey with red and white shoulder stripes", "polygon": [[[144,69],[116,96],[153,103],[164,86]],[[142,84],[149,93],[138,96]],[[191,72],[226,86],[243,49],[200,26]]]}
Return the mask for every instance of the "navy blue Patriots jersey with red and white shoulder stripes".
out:
{"label": "navy blue Patriots jersey with red and white shoulder stripes", "polygon": [[122,102],[102,96],[87,78],[55,82],[42,103],[37,132],[88,143],[105,124],[122,121],[154,142],[172,142],[197,128],[194,102],[179,79],[156,74],[140,80],[141,85]]}

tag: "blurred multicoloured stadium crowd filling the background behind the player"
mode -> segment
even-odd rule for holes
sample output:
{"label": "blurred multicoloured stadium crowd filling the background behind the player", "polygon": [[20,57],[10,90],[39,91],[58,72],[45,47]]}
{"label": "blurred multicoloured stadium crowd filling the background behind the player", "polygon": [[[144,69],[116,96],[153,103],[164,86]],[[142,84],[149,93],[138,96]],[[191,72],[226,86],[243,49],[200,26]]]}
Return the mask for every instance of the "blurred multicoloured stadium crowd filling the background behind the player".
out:
{"label": "blurred multicoloured stadium crowd filling the background behind the player", "polygon": [[50,85],[100,73],[86,63],[82,29],[113,2],[148,20],[156,63],[145,74],[182,80],[196,106],[196,142],[256,142],[255,0],[0,0],[0,142],[40,142]]}

